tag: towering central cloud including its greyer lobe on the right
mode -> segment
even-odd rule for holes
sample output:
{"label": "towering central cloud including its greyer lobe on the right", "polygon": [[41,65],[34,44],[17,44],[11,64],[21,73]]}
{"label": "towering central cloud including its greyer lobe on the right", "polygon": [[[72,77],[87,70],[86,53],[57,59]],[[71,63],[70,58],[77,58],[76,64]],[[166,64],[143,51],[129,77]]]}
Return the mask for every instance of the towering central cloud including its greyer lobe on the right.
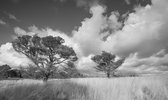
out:
{"label": "towering central cloud including its greyer lobe on the right", "polygon": [[112,12],[107,17],[103,15],[105,11],[103,6],[93,6],[90,9],[91,18],[85,18],[78,30],[73,31],[73,40],[80,45],[84,56],[106,50],[104,38],[122,27],[122,23],[118,21],[118,12]]}

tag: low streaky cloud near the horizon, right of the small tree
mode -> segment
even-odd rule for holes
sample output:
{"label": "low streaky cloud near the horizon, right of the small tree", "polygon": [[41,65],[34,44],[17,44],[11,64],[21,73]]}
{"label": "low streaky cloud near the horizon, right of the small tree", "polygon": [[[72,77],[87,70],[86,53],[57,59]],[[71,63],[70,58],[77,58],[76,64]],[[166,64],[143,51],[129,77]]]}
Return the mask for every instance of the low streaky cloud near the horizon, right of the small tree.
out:
{"label": "low streaky cloud near the horizon, right of the small tree", "polygon": [[134,70],[137,72],[168,71],[168,54],[163,55],[163,51],[158,52],[161,56],[157,54],[147,58],[139,58],[137,53],[131,54],[120,69]]}

